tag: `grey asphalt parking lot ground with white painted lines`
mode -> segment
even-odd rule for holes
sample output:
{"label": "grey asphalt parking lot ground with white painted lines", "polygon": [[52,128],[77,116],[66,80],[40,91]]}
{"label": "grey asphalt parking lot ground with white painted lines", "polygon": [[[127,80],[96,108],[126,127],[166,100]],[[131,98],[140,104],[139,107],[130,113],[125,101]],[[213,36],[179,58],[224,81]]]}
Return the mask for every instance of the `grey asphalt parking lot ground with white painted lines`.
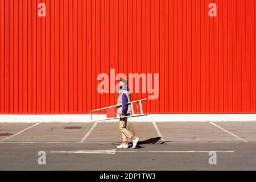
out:
{"label": "grey asphalt parking lot ground with white painted lines", "polygon": [[118,122],[0,123],[0,170],[256,170],[256,122],[128,123],[136,149]]}

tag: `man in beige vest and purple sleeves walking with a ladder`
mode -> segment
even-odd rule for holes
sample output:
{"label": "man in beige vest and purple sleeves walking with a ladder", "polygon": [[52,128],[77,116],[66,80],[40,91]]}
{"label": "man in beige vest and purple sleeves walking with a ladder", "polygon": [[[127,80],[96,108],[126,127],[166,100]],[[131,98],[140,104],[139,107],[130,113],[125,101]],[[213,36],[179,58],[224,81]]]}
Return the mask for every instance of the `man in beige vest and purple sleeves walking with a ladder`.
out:
{"label": "man in beige vest and purple sleeves walking with a ladder", "polygon": [[126,129],[127,118],[125,116],[129,116],[131,114],[131,105],[128,105],[128,102],[131,102],[131,94],[127,86],[127,80],[121,80],[119,82],[119,88],[117,104],[122,105],[117,107],[117,114],[120,115],[119,130],[122,133],[123,143],[117,146],[117,148],[128,148],[128,138],[133,141],[133,148],[135,148],[139,142],[139,138],[133,136],[130,131]]}

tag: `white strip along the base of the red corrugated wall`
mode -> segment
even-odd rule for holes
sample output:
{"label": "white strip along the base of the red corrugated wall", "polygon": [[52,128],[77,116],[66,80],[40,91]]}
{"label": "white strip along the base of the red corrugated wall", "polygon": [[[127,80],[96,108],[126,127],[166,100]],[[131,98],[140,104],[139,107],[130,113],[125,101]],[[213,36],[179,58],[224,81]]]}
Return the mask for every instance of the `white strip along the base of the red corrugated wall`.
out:
{"label": "white strip along the base of the red corrugated wall", "polygon": [[[106,118],[105,114],[93,115],[94,120]],[[256,121],[256,114],[150,114],[128,118],[134,122],[219,122]],[[118,119],[102,122],[116,122]],[[0,114],[0,122],[92,122],[89,114]]]}

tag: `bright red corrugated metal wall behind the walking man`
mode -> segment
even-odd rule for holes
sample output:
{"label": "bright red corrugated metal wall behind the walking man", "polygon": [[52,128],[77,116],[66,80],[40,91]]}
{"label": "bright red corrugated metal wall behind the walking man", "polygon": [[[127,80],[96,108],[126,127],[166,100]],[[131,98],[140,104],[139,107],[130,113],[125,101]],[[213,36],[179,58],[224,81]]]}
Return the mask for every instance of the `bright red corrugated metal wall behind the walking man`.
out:
{"label": "bright red corrugated metal wall behind the walking man", "polygon": [[0,113],[114,105],[117,94],[97,92],[97,75],[111,68],[159,73],[150,113],[256,113],[255,8],[255,0],[0,0]]}

